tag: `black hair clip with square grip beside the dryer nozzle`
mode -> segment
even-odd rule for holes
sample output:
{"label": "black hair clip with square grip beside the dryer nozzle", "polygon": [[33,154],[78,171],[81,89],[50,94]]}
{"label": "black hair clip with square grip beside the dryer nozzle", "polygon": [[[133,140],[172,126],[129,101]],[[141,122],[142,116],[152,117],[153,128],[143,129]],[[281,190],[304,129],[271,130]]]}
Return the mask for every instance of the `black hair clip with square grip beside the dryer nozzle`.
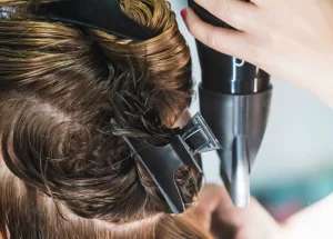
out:
{"label": "black hair clip with square grip beside the dryer nozzle", "polygon": [[[117,126],[114,119],[111,122]],[[124,140],[159,187],[173,213],[185,210],[174,179],[176,170],[188,166],[202,173],[193,156],[221,149],[200,113],[196,113],[180,133],[174,135],[168,145],[152,146],[145,140],[128,137],[124,137]]]}

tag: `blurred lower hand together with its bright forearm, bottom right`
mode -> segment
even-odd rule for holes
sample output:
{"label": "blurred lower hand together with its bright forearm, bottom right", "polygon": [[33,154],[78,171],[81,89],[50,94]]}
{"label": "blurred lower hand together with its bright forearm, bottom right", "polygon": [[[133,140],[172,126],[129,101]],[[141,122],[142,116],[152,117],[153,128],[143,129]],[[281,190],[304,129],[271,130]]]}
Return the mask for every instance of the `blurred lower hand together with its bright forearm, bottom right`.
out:
{"label": "blurred lower hand together with its bright forearm, bottom right", "polygon": [[330,239],[333,195],[294,215],[283,223],[254,199],[246,209],[235,208],[225,188],[206,185],[190,213],[216,238],[225,239]]}

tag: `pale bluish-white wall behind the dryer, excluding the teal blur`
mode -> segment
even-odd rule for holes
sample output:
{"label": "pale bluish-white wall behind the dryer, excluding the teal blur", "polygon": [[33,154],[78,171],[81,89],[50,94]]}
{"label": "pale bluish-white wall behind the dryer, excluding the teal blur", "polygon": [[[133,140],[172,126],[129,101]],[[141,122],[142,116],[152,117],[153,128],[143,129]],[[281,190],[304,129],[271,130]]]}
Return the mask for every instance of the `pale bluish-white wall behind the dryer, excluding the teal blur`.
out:
{"label": "pale bluish-white wall behind the dryer, excluding the teal blur", "polygon": [[[193,77],[199,83],[201,71],[195,43],[179,14],[186,1],[171,0],[171,3],[190,44]],[[310,177],[315,171],[333,167],[333,110],[307,92],[283,81],[273,79],[273,86],[270,121],[251,176],[254,187]],[[199,111],[198,97],[191,111]],[[206,180],[220,182],[215,153],[204,155],[203,163]]]}

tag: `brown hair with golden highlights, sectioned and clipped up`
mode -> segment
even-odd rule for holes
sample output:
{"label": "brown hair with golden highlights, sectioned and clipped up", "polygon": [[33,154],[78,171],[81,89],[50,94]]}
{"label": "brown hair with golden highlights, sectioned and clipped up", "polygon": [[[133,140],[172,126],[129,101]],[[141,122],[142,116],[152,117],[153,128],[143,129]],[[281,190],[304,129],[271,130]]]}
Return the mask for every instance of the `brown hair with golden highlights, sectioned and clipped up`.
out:
{"label": "brown hair with golden highlights, sectioned and clipped up", "polygon": [[[121,136],[168,140],[191,61],[164,0],[120,0],[144,42],[49,22],[51,0],[0,0],[0,232],[11,238],[208,238],[173,217]],[[114,131],[112,117],[123,119]],[[161,122],[158,120],[161,119]],[[158,159],[157,159],[158,160]],[[199,176],[175,176],[191,205]],[[0,235],[1,235],[0,233]]]}

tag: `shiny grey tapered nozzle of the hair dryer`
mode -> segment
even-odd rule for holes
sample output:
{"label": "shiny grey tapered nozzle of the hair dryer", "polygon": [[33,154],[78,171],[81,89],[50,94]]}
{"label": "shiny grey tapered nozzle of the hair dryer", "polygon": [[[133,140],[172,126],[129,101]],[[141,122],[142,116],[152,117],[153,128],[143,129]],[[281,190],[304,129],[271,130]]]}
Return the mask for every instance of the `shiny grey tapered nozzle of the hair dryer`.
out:
{"label": "shiny grey tapered nozzle of the hair dryer", "polygon": [[264,137],[272,88],[253,94],[223,94],[200,86],[201,113],[220,141],[221,177],[236,207],[250,201],[250,172]]}

